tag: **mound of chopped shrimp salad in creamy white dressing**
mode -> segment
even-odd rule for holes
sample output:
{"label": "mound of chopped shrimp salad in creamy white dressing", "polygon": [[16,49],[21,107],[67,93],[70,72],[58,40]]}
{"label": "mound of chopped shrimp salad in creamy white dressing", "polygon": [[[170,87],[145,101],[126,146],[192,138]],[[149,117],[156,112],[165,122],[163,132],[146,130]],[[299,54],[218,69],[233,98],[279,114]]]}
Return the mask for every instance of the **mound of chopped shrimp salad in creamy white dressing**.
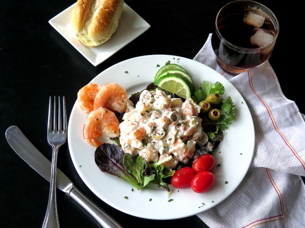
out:
{"label": "mound of chopped shrimp salad in creamy white dressing", "polygon": [[135,108],[130,108],[120,123],[120,144],[125,153],[139,154],[147,162],[172,155],[165,166],[186,163],[195,145],[207,141],[198,117],[200,106],[191,98],[171,98],[163,91],[142,91]]}

